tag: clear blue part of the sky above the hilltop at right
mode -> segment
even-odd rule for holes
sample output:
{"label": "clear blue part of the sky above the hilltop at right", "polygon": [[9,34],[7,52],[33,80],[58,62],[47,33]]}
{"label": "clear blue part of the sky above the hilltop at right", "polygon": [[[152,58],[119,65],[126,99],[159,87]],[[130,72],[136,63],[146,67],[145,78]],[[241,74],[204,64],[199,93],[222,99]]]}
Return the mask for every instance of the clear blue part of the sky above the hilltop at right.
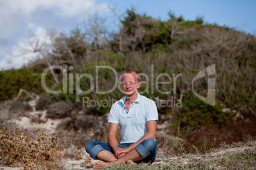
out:
{"label": "clear blue part of the sky above the hilltop at right", "polygon": [[[104,1],[97,1],[102,3]],[[167,12],[173,11],[176,16],[182,15],[185,20],[195,20],[203,16],[205,23],[234,27],[246,33],[256,34],[256,1],[255,0],[186,0],[186,1],[109,1],[117,4],[120,10],[134,6],[139,13],[146,13],[154,18],[167,20]]]}

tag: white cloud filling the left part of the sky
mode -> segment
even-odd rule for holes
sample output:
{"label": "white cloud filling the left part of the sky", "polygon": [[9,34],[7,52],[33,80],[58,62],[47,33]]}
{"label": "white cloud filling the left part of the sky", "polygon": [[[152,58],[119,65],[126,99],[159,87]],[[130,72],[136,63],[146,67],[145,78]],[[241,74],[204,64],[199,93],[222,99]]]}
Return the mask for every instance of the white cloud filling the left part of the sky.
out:
{"label": "white cloud filling the left part of the sky", "polygon": [[10,48],[15,56],[11,60],[14,68],[34,57],[34,54],[20,56],[17,48],[28,48],[29,30],[42,37],[47,29],[70,30],[71,25],[90,15],[107,12],[107,3],[96,4],[94,0],[0,0],[0,70],[10,69]]}

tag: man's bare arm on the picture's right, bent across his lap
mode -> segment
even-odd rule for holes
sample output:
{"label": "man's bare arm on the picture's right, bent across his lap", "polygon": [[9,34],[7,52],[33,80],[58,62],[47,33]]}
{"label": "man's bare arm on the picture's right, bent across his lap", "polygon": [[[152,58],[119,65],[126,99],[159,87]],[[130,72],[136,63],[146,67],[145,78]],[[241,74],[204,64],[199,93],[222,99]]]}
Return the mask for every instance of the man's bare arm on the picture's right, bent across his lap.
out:
{"label": "man's bare arm on the picture's right, bent across his lap", "polygon": [[135,143],[133,143],[132,145],[130,145],[127,148],[118,148],[115,151],[115,157],[118,157],[118,155],[120,155],[121,153],[127,153],[130,152],[132,149],[134,149],[139,143],[141,143],[141,141],[146,140],[148,138],[152,138],[153,140],[155,139],[155,132],[157,130],[157,121],[148,121],[146,122],[146,129],[147,129],[147,133],[144,134],[138,141],[136,141]]}

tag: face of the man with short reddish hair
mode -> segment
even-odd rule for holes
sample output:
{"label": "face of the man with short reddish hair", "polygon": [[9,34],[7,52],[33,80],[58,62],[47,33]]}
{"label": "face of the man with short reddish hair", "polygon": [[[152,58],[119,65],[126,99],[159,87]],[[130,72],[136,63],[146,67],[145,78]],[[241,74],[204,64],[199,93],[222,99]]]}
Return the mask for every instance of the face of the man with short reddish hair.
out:
{"label": "face of the man with short reddish hair", "polygon": [[136,74],[134,72],[124,74],[122,79],[122,88],[126,96],[132,96],[137,93],[141,83],[137,81]]}

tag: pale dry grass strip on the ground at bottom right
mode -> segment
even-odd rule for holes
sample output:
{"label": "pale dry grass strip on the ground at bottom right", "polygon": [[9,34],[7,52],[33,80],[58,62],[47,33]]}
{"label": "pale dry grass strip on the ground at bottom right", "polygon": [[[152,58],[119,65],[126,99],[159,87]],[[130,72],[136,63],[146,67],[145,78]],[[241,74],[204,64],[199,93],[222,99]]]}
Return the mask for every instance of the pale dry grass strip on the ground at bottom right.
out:
{"label": "pale dry grass strip on the ground at bottom right", "polygon": [[[241,143],[236,143],[236,145],[241,147]],[[243,143],[243,146],[245,145],[250,147],[242,147],[232,151],[229,146],[224,152],[216,154],[184,154],[182,157],[175,157],[176,159],[166,157],[153,164],[116,164],[104,167],[104,169],[255,169],[255,142]]]}

